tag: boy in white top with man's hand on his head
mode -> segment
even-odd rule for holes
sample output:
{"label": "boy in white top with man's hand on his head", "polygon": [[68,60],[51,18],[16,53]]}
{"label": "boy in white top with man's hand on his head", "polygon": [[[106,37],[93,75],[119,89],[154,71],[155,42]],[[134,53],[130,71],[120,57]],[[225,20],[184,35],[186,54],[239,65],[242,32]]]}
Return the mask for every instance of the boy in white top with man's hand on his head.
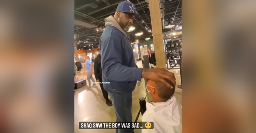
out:
{"label": "boy in white top with man's hand on his head", "polygon": [[[165,80],[171,84],[170,80]],[[147,82],[146,89],[153,101],[146,102],[147,110],[142,121],[154,122],[154,129],[142,129],[142,133],[181,133],[181,105],[173,95],[175,89],[151,80]]]}

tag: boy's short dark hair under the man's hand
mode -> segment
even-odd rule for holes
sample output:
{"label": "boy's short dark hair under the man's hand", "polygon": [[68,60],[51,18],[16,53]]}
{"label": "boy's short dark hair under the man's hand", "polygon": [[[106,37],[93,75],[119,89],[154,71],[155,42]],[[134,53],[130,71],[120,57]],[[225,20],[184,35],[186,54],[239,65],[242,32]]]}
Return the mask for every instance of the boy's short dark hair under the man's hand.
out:
{"label": "boy's short dark hair under the man's hand", "polygon": [[[173,84],[169,79],[165,78],[165,81],[167,81],[169,84]],[[175,92],[174,88],[168,88],[162,82],[156,82],[156,89],[158,90],[158,96],[163,99],[169,99]]]}

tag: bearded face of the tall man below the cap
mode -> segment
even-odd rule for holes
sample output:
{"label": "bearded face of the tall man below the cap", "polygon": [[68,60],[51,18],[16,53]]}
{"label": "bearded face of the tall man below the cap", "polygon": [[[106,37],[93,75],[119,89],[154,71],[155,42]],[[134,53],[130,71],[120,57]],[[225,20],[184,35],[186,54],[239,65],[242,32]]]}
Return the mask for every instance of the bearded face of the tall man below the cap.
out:
{"label": "bearded face of the tall man below the cap", "polygon": [[134,15],[132,13],[117,12],[118,23],[124,31],[129,31],[131,24],[133,23]]}

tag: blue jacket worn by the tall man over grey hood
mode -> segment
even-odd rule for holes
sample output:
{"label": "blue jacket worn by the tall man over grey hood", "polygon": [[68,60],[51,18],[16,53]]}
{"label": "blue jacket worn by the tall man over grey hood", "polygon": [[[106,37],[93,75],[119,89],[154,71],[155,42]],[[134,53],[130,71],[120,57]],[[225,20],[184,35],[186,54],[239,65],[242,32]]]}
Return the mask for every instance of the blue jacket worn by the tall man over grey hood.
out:
{"label": "blue jacket worn by the tall man over grey hood", "polygon": [[[118,25],[119,26],[119,25]],[[131,93],[141,81],[142,68],[136,68],[131,43],[120,27],[106,26],[100,38],[104,89],[111,93]]]}

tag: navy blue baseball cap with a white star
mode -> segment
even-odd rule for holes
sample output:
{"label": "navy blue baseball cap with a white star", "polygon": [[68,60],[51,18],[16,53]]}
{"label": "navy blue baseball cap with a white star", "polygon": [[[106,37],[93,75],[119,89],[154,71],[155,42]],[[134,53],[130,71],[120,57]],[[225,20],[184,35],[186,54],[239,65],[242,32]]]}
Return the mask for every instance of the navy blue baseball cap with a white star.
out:
{"label": "navy blue baseball cap with a white star", "polygon": [[135,5],[128,1],[123,1],[119,3],[116,8],[116,12],[132,13],[134,15],[139,15],[136,13]]}

